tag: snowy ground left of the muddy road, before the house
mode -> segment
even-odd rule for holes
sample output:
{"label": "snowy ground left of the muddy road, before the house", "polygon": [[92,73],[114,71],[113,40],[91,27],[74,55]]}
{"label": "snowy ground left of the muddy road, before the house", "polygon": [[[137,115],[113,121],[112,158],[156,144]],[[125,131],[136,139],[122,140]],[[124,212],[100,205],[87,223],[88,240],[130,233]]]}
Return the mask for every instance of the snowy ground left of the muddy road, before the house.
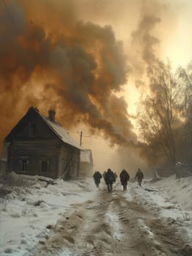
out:
{"label": "snowy ground left of the muddy road, before the house", "polygon": [[[86,181],[56,180],[47,188],[36,181],[31,188],[18,188],[1,200],[0,255],[31,255],[45,241],[61,215],[73,211],[76,203],[94,197]],[[37,206],[35,206],[37,205]]]}

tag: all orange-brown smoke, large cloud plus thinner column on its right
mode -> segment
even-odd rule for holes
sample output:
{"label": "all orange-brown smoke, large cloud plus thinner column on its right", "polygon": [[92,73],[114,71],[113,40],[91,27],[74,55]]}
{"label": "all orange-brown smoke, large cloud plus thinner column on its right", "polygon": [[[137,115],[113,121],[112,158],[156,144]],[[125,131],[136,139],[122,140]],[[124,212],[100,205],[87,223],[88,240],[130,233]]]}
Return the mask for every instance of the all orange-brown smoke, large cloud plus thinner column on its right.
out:
{"label": "all orange-brown smoke, large cloud plus thinner column on its right", "polygon": [[128,104],[117,93],[128,82],[128,75],[145,90],[144,76],[153,64],[160,63],[160,39],[153,31],[167,7],[155,0],[134,4],[121,0],[123,15],[125,10],[137,13],[137,19],[128,20],[135,27],[128,26],[131,39],[123,45],[110,22],[101,26],[89,21],[91,14],[99,12],[101,23],[111,12],[120,18],[117,2],[83,0],[88,8],[86,15],[83,11],[80,15],[82,4],[77,0],[1,3],[2,137],[34,105],[44,114],[55,108],[58,121],[66,128],[82,120],[93,128],[92,132],[101,131],[112,145],[145,151],[146,145],[137,141]]}

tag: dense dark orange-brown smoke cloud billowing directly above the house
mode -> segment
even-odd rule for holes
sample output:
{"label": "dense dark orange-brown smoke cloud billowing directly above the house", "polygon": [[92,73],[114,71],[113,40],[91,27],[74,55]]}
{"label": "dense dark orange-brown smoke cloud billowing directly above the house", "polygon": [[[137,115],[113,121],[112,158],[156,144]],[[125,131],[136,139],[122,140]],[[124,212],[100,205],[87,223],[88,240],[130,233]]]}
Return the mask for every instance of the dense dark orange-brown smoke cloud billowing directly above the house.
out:
{"label": "dense dark orange-brown smoke cloud billowing directly above the house", "polygon": [[35,105],[55,108],[66,127],[81,117],[112,144],[136,138],[125,100],[112,94],[127,80],[123,45],[111,26],[77,21],[73,10],[69,1],[7,1],[1,9],[1,129]]}

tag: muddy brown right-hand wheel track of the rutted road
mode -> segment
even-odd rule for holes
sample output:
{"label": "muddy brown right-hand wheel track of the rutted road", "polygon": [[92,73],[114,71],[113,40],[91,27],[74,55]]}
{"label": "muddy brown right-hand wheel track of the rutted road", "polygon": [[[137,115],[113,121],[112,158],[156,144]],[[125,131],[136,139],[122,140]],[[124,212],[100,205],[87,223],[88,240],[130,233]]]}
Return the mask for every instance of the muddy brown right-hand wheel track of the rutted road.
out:
{"label": "muddy brown right-hand wheel track of the rutted road", "polygon": [[120,213],[120,216],[122,221],[128,219],[128,223],[125,225],[125,229],[127,229],[125,232],[129,235],[128,241],[130,242],[128,250],[139,248],[142,255],[146,256],[191,256],[183,248],[185,243],[177,233],[175,225],[167,226],[167,223],[153,216],[142,205],[137,204],[134,200],[128,201],[120,192],[118,195],[122,198],[115,205],[126,207],[126,211]]}

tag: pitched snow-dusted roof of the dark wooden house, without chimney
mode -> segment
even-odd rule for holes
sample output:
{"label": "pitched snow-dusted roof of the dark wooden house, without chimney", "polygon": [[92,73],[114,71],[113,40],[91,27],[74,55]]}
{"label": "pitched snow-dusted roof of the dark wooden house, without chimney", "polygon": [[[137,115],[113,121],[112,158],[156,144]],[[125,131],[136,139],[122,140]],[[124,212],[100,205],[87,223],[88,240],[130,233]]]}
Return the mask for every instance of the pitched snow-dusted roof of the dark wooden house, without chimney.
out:
{"label": "pitched snow-dusted roof of the dark wooden house, without chimney", "polygon": [[[31,110],[34,110],[42,118],[42,121],[44,121],[45,124],[47,124],[47,126],[55,133],[55,135],[62,142],[69,144],[71,146],[74,146],[75,148],[84,150],[81,146],[77,144],[76,141],[73,140],[73,138],[69,135],[69,132],[66,129],[64,129],[64,127],[61,127],[61,124],[58,124],[58,122],[56,121],[51,121],[50,118],[43,116],[41,113],[39,113],[39,110],[37,108],[31,107],[28,109],[28,111],[31,111]],[[26,113],[26,115],[27,114],[28,112]],[[26,115],[23,116],[23,118],[25,118]],[[23,118],[21,118],[18,124],[16,124],[15,127],[11,130],[11,132],[9,132],[9,135],[7,135],[7,137],[5,138],[5,141],[9,141],[10,138],[12,138],[18,132],[19,124],[23,122]]]}

